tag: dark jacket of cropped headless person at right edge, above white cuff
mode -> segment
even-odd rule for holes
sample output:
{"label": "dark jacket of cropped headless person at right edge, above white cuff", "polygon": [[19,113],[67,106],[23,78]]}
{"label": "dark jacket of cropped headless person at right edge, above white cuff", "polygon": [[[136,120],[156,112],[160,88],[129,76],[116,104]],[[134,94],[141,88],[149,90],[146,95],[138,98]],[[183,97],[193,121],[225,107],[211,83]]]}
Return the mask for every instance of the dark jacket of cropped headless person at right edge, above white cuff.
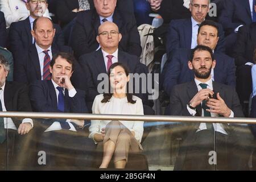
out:
{"label": "dark jacket of cropped headless person at right edge, above white cuff", "polygon": [[254,49],[256,48],[256,23],[239,28],[237,42],[234,47],[236,65],[253,62]]}

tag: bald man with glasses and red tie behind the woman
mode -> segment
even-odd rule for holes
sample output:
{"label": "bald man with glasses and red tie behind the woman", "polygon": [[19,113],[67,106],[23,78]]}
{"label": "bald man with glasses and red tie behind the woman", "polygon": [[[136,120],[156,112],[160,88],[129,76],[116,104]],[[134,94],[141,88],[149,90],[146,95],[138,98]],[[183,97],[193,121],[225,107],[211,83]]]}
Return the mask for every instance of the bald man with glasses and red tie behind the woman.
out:
{"label": "bald man with glasses and red tie behind the woman", "polygon": [[[101,49],[89,54],[82,55],[79,59],[82,71],[76,72],[74,81],[76,85],[82,90],[86,90],[86,101],[88,109],[92,108],[94,98],[101,94],[98,91],[98,85],[101,80],[98,80],[98,75],[107,73],[110,65],[116,62],[125,64],[130,69],[130,73],[147,73],[143,71],[146,67],[139,62],[139,57],[129,55],[118,48],[118,43],[122,39],[122,34],[119,33],[118,27],[113,22],[102,23],[98,28],[97,42],[100,44]],[[147,94],[137,93],[136,96],[140,97],[144,105],[150,105],[148,102]],[[146,111],[144,111],[146,113]]]}

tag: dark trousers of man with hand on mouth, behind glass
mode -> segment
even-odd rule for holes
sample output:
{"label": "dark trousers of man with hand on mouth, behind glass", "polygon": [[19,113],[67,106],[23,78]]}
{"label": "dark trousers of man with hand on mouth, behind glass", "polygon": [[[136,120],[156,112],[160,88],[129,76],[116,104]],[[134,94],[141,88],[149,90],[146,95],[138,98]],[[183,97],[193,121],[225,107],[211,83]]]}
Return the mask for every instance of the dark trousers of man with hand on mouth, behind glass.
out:
{"label": "dark trousers of man with hand on mouth, behind glass", "polygon": [[46,152],[42,169],[83,169],[92,167],[95,144],[82,132],[56,130],[44,132],[38,151]]}

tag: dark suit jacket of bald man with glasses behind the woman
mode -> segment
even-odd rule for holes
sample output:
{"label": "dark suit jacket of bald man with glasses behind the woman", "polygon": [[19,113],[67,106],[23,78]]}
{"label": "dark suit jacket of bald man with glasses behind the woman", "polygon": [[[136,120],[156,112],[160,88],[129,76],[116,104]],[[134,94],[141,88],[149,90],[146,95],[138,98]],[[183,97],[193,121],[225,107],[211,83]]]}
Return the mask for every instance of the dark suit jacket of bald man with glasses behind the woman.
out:
{"label": "dark suit jacket of bald man with glasses behind the woman", "polygon": [[[141,62],[139,62],[139,57],[137,56],[129,55],[126,52],[118,50],[118,61],[127,65],[127,67],[130,69],[130,73],[147,73],[146,71],[142,71],[143,65]],[[74,85],[76,85],[76,87],[78,86],[78,88],[86,90],[86,96],[88,96],[86,97],[86,101],[88,101],[86,104],[88,104],[88,108],[91,109],[94,98],[100,94],[97,91],[97,86],[100,84],[101,80],[97,80],[97,77],[100,73],[107,74],[101,49],[82,55],[79,59],[79,64],[82,70],[76,72],[77,67],[75,67],[76,73],[74,73],[72,76],[72,82]],[[76,77],[76,81],[74,80],[74,77]],[[147,102],[147,97],[145,94],[135,95],[142,99],[143,104]]]}

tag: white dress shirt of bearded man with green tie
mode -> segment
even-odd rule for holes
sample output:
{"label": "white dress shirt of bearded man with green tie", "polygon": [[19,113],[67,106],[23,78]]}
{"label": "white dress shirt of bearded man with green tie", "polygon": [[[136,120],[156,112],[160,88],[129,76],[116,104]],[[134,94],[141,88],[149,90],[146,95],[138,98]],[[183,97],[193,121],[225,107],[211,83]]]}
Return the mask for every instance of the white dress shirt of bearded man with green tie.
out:
{"label": "white dress shirt of bearded man with green tie", "polygon": [[[201,88],[201,86],[200,86],[199,84],[201,84],[202,82],[200,82],[200,81],[197,80],[196,78],[195,78],[195,82],[196,82],[197,90],[200,91],[202,88]],[[212,79],[210,79],[209,81],[205,82],[204,84],[207,84],[207,88],[208,88],[208,89],[213,90]],[[216,93],[216,94],[217,94],[217,93]],[[191,115],[195,116],[196,110],[193,110],[193,109],[189,108],[188,106],[187,106],[187,109],[188,109],[188,112],[189,112]],[[204,109],[202,108],[202,117],[203,117],[203,116],[204,116]],[[211,116],[211,117],[218,117],[218,114],[216,114],[216,113],[210,113],[210,116]],[[234,113],[233,113],[233,111],[231,111],[231,114],[229,115],[229,118],[233,118],[233,117],[234,117]],[[224,130],[224,127],[223,127],[222,123],[212,123],[212,124],[213,124],[213,127],[214,127],[214,130],[215,130],[215,131],[218,131],[218,132],[220,132],[220,133],[222,133],[222,134],[225,134],[225,135],[228,134],[228,133],[226,133],[226,131]],[[200,123],[199,129],[197,129],[196,132],[201,131],[201,130],[207,130],[207,126],[206,126],[205,123]]]}

